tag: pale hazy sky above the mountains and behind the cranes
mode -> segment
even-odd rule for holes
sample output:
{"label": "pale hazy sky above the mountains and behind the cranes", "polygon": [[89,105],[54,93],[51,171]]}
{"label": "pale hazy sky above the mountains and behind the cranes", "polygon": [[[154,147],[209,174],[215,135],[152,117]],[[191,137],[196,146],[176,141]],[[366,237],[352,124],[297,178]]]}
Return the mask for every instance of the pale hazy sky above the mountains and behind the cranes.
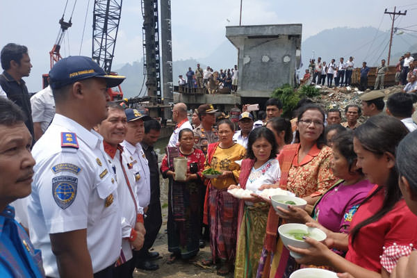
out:
{"label": "pale hazy sky above the mountains and behind the cranes", "polygon": [[[70,17],[74,1],[68,0],[65,20]],[[65,2],[66,0],[0,0],[0,47],[8,42],[28,47],[33,69],[31,76],[25,80],[30,92],[40,90],[42,73],[49,72],[49,51],[58,35],[58,21],[63,15]],[[62,56],[79,55],[80,48],[81,55],[91,56],[93,3],[94,0],[76,2],[73,25],[63,43]],[[227,40],[224,37],[224,26],[239,23],[240,0],[171,0],[171,4],[173,60],[208,56],[220,43]],[[389,15],[384,15],[384,10],[393,10],[394,5],[402,11],[408,10],[406,16],[395,22],[395,26],[417,24],[416,0],[243,0],[242,24],[301,23],[303,40],[324,29],[341,26],[374,26],[385,31],[391,28],[391,19]],[[81,47],[86,13],[87,21]],[[413,28],[416,30],[415,26]],[[124,0],[113,69],[141,58],[140,0]]]}

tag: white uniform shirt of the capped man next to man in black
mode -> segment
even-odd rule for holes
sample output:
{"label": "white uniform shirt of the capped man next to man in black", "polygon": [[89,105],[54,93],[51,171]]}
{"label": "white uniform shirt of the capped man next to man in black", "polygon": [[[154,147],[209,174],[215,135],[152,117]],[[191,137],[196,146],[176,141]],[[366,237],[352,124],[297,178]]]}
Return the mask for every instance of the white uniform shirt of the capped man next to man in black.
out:
{"label": "white uniform shirt of the capped man next to man in black", "polygon": [[[138,206],[146,208],[151,202],[151,174],[149,165],[140,143],[135,146],[124,140],[121,144],[124,147],[126,160],[124,165],[134,179],[136,188],[136,202]],[[126,167],[125,167],[126,169]]]}

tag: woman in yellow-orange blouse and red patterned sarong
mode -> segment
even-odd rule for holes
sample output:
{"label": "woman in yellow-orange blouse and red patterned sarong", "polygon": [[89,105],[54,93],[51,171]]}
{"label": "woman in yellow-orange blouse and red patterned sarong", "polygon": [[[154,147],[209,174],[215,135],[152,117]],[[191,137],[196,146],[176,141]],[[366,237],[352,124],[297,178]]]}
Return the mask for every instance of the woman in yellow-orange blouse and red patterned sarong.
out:
{"label": "woman in yellow-orange blouse and red patterned sarong", "polygon": [[[204,204],[204,223],[210,223],[211,265],[220,261],[219,275],[233,270],[236,254],[236,227],[238,225],[238,199],[227,193],[231,184],[238,183],[240,166],[235,161],[245,157],[246,149],[233,142],[234,124],[230,120],[218,123],[219,142],[208,145],[205,170],[213,168],[222,172],[210,179]],[[218,259],[218,260],[217,260]]]}

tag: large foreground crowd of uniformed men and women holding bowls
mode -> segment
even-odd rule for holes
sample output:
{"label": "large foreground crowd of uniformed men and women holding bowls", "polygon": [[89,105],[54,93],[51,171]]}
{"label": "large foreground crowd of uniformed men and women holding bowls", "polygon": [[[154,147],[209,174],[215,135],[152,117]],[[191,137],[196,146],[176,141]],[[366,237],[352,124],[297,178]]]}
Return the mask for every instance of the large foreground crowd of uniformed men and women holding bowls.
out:
{"label": "large foreground crowd of uniformed men and women holding bowls", "polygon": [[[49,72],[55,113],[35,136],[22,80],[31,69],[28,49],[6,45],[1,65],[2,277],[156,270],[159,254],[149,250],[162,225],[160,173],[169,180],[168,264],[193,262],[208,240],[211,254],[201,263],[217,265],[218,275],[289,277],[309,267],[347,278],[416,277],[414,92],[386,103],[379,90],[367,92],[344,108],[345,122],[339,109],[323,111],[311,99],[289,120],[281,101],[269,99],[263,120],[243,106],[238,128],[211,104],[191,121],[186,104],[174,104],[177,125],[158,167],[161,124],[109,101],[107,88],[123,76],[106,75],[88,57],[58,61]],[[362,124],[361,115],[368,117]],[[209,177],[209,169],[220,174]],[[234,188],[252,193],[234,197]],[[288,190],[306,207],[276,213],[260,195],[267,188]],[[287,249],[278,229],[291,222],[327,238],[307,236],[309,248]]]}

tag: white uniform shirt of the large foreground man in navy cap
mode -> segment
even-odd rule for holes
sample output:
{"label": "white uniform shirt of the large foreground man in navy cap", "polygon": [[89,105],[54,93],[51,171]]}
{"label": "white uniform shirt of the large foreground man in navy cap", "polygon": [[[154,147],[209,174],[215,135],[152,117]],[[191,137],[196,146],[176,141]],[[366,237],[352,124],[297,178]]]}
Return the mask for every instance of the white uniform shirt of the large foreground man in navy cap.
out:
{"label": "white uniform shirt of the large foreground man in navy cap", "polygon": [[[79,149],[70,146],[79,145]],[[33,245],[42,250],[45,274],[59,277],[49,234],[87,229],[94,273],[120,256],[122,229],[117,183],[95,131],[56,114],[32,149],[32,193],[28,200]]]}

